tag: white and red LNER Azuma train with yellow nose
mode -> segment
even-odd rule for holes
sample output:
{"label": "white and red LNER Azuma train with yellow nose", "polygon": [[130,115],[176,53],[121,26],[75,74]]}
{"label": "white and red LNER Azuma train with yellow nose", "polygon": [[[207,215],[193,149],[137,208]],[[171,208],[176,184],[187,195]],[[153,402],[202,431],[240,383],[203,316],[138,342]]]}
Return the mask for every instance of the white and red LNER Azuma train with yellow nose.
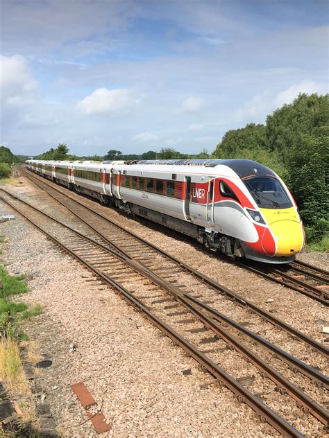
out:
{"label": "white and red LNER Azuma train with yellow nose", "polygon": [[28,170],[76,193],[198,240],[226,256],[289,263],[305,242],[285,183],[248,159],[27,160]]}

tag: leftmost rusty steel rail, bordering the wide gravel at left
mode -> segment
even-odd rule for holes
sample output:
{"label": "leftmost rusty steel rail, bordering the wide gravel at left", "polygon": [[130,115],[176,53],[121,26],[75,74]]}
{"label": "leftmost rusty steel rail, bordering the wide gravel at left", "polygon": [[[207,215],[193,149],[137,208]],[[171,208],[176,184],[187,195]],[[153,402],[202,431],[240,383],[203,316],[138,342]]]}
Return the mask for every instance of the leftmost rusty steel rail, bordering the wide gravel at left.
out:
{"label": "leftmost rusty steel rail, bordering the wide gravel at left", "polygon": [[[1,190],[3,191],[3,189],[1,189]],[[4,191],[4,192],[8,193],[6,191]],[[11,195],[10,193],[8,193],[8,194]],[[15,196],[13,196],[13,198],[15,198]],[[228,389],[230,389],[233,392],[233,394],[235,394],[235,396],[238,397],[239,401],[244,401],[244,403],[246,403],[248,406],[250,406],[255,412],[260,414],[263,421],[267,421],[269,424],[271,424],[271,426],[273,426],[273,428],[278,430],[278,432],[280,432],[284,436],[287,436],[287,437],[302,437],[303,436],[292,425],[290,425],[287,421],[285,421],[285,419],[282,419],[282,417],[280,417],[276,412],[271,410],[271,408],[269,408],[265,403],[260,401],[260,399],[257,396],[254,396],[254,394],[252,394],[250,391],[248,391],[248,389],[246,389],[243,385],[241,385],[239,382],[237,382],[237,380],[235,380],[235,378],[233,378],[228,373],[226,373],[226,371],[221,369],[221,367],[219,367],[214,362],[212,362],[212,360],[207,358],[207,356],[205,356],[205,354],[203,354],[201,351],[196,349],[196,347],[194,347],[192,344],[190,344],[187,340],[182,338],[176,331],[171,329],[171,327],[169,327],[165,322],[162,322],[162,320],[160,318],[153,315],[153,313],[151,313],[149,308],[147,308],[147,306],[145,306],[142,303],[142,301],[137,299],[137,297],[135,297],[131,292],[129,292],[128,290],[126,290],[125,288],[120,286],[119,283],[117,283],[113,279],[110,279],[110,277],[106,276],[105,274],[103,274],[102,272],[100,272],[99,270],[94,268],[90,263],[85,261],[85,259],[83,259],[81,256],[78,256],[78,254],[75,254],[71,249],[69,249],[69,247],[67,247],[66,245],[61,243],[60,240],[58,240],[54,236],[51,236],[51,234],[49,234],[47,231],[42,229],[42,227],[37,225],[37,223],[35,223],[35,221],[28,218],[24,213],[22,213],[22,211],[20,211],[19,209],[17,209],[17,207],[12,205],[11,202],[8,202],[8,200],[5,200],[2,197],[1,197],[1,199],[3,200],[3,202],[6,202],[6,204],[8,204],[12,209],[17,211],[17,213],[21,214],[21,216],[26,218],[26,220],[28,220],[28,222],[30,222],[37,229],[42,231],[42,233],[45,234],[48,238],[51,238],[51,240],[53,240],[53,242],[55,242],[58,246],[60,246],[62,249],[64,249],[65,252],[67,252],[68,254],[73,256],[75,259],[77,259],[78,261],[80,261],[81,263],[86,265],[89,270],[94,272],[94,274],[96,274],[98,277],[103,279],[103,281],[106,281],[106,283],[108,283],[110,286],[112,286],[118,292],[120,292],[121,295],[123,295],[126,299],[128,299],[128,301],[130,301],[131,304],[133,304],[135,307],[140,309],[146,315],[146,317],[148,317],[148,319],[150,319],[155,324],[155,326],[158,327],[158,329],[160,329],[163,333],[168,335],[169,338],[171,338],[171,340],[173,340],[176,344],[178,344],[180,347],[182,347],[187,353],[189,353],[190,356],[192,356],[197,362],[199,362],[201,365],[203,365],[203,367],[205,367],[205,369],[210,371],[210,373],[215,378],[219,379],[219,383],[221,383],[222,385],[226,385],[226,387],[228,387]],[[19,200],[19,198],[17,198],[17,200]],[[28,204],[27,202],[25,202],[25,203]],[[30,206],[30,207],[33,207],[33,206]],[[33,207],[33,208],[35,209],[35,207]],[[42,211],[40,211],[40,212],[43,213]],[[49,215],[47,215],[47,213],[43,213],[43,214],[45,216],[49,216]],[[58,222],[58,221],[56,220],[56,222]],[[65,226],[65,227],[67,227],[67,226]],[[76,230],[73,230],[73,231],[76,231]],[[78,234],[80,234],[80,233],[78,233]],[[120,256],[120,254],[116,254],[116,255]]]}

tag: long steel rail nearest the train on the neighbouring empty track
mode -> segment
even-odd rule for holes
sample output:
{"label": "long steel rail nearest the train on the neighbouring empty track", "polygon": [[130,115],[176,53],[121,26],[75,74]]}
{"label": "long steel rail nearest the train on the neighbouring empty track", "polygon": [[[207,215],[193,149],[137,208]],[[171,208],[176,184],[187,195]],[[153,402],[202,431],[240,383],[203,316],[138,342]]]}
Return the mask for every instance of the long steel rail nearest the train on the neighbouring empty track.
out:
{"label": "long steel rail nearest the train on the neighbouring empty track", "polygon": [[[152,243],[149,243],[144,238],[141,238],[140,236],[137,236],[137,234],[133,233],[132,231],[128,231],[124,227],[121,227],[121,225],[118,225],[117,223],[113,222],[112,220],[106,218],[106,216],[103,216],[103,214],[98,213],[97,211],[94,211],[94,210],[90,209],[90,207],[87,207],[86,205],[82,204],[78,200],[76,200],[74,198],[71,198],[71,196],[67,195],[67,193],[63,193],[62,191],[60,191],[57,188],[57,186],[53,186],[53,183],[49,183],[47,181],[47,179],[44,179],[42,177],[37,177],[34,174],[28,173],[25,169],[24,169],[24,172],[28,175],[28,177],[32,177],[32,178],[36,179],[38,182],[40,182],[40,183],[42,183],[42,184],[44,184],[46,186],[49,186],[54,191],[58,191],[58,193],[60,193],[61,195],[66,196],[70,200],[73,200],[74,202],[76,202],[76,204],[79,204],[81,207],[84,207],[85,209],[91,211],[96,216],[99,216],[100,218],[103,218],[104,220],[107,220],[110,224],[115,225],[115,227],[121,229],[121,231],[124,231],[127,234],[129,234],[130,236],[133,236],[134,238],[136,238],[137,240],[140,240],[140,242],[142,242],[145,245],[151,247],[152,249],[154,249],[159,254],[162,254],[163,256],[166,256],[171,261],[174,261],[174,263],[176,263],[177,265],[180,265],[181,268],[191,272],[192,274],[195,275],[195,277],[201,279],[206,284],[208,284],[208,286],[211,286],[212,288],[214,288],[214,290],[217,290],[218,292],[220,292],[221,295],[226,295],[227,297],[229,297],[230,299],[232,299],[233,301],[235,301],[237,304],[239,304],[242,307],[250,308],[251,310],[253,310],[253,312],[257,313],[260,317],[263,317],[264,319],[266,319],[271,324],[278,326],[280,329],[282,329],[284,331],[287,331],[287,333],[290,333],[290,334],[296,336],[298,339],[300,339],[303,342],[305,342],[306,344],[309,344],[311,347],[313,347],[314,349],[319,351],[319,353],[321,353],[326,358],[329,357],[329,349],[327,347],[325,347],[323,344],[321,344],[320,342],[317,342],[316,340],[308,337],[307,335],[305,335],[301,331],[298,331],[297,329],[294,329],[294,327],[292,327],[289,324],[283,322],[278,317],[275,317],[275,316],[271,315],[266,310],[263,310],[262,308],[260,308],[256,304],[254,304],[252,301],[248,301],[247,299],[240,297],[239,294],[237,294],[237,292],[233,292],[233,290],[230,290],[230,289],[226,288],[225,286],[222,286],[220,283],[217,283],[217,281],[214,281],[213,279],[210,279],[210,277],[208,277],[205,274],[202,274],[201,272],[195,270],[194,268],[190,267],[189,265],[187,265],[183,261],[180,261],[180,260],[176,259],[176,257],[172,256],[171,254],[169,254],[169,253],[163,251],[162,249],[156,247]],[[37,187],[40,188],[40,186],[38,186],[35,182],[34,182],[34,184]],[[42,190],[44,190],[44,189],[42,189]],[[49,193],[49,192],[47,192],[47,193]],[[49,195],[51,195],[51,194],[49,193]],[[67,209],[69,209],[69,207],[67,207],[64,203],[62,203],[60,200],[55,198],[53,195],[51,195],[51,197],[56,199],[60,204],[65,206]],[[69,211],[71,211],[77,217],[80,218],[80,216],[78,216],[71,209],[69,209]],[[90,224],[87,224],[87,225],[90,226]],[[244,265],[242,265],[242,268],[244,268]],[[272,277],[270,277],[270,279],[272,279]]]}

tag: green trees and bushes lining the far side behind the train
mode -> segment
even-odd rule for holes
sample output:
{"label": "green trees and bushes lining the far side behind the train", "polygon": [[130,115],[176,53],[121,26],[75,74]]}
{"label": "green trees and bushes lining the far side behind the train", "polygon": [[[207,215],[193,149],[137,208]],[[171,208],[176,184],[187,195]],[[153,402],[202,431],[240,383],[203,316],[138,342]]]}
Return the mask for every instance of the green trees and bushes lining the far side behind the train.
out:
{"label": "green trees and bushes lining the far side behind the train", "polygon": [[[187,158],[246,158],[273,169],[289,186],[306,226],[307,241],[323,240],[328,247],[329,232],[329,101],[326,96],[300,94],[290,105],[276,109],[264,125],[249,123],[229,130],[210,154],[185,154],[171,147],[142,154],[123,154],[109,150],[106,155],[69,155],[64,143],[34,157],[35,159],[69,160],[140,160]],[[0,162],[12,164],[27,157],[12,155],[0,148]]]}

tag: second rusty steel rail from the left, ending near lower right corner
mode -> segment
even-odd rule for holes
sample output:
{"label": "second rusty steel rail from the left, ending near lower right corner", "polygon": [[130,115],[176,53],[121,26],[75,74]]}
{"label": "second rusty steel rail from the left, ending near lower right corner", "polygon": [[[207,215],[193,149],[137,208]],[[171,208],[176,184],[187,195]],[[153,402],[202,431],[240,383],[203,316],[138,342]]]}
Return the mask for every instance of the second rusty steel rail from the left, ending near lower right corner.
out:
{"label": "second rusty steel rail from the left, ending near lower right corner", "polygon": [[[195,306],[193,306],[189,301],[186,300],[186,297],[189,297],[190,300],[194,301],[198,306],[201,306],[201,308],[210,311],[214,315],[221,315],[219,312],[215,311],[214,309],[210,308],[210,306],[207,306],[206,304],[203,304],[198,299],[195,299],[191,295],[187,294],[187,292],[183,292],[176,286],[173,286],[169,281],[162,279],[158,274],[155,274],[149,268],[147,268],[145,265],[143,265],[140,262],[136,262],[134,260],[128,259],[126,260],[126,256],[121,256],[121,254],[117,254],[117,252],[113,251],[112,249],[107,248],[106,246],[98,243],[96,240],[85,236],[84,234],[81,234],[80,231],[76,231],[74,229],[71,229],[68,225],[63,224],[62,222],[54,219],[52,216],[48,215],[47,213],[44,213],[43,211],[40,211],[36,207],[32,206],[28,202],[25,202],[24,200],[20,200],[15,195],[12,195],[11,193],[8,193],[4,191],[3,189],[0,189],[4,193],[7,193],[8,195],[12,196],[15,200],[19,200],[22,203],[28,205],[28,207],[31,207],[33,210],[37,211],[38,213],[42,213],[43,216],[46,216],[47,218],[50,218],[51,220],[55,220],[57,223],[62,225],[63,227],[70,229],[70,231],[75,232],[79,236],[85,237],[87,240],[91,241],[95,245],[101,247],[102,249],[105,249],[106,251],[110,252],[111,254],[117,256],[119,259],[125,261],[126,264],[128,264],[131,268],[142,274],[144,277],[149,278],[153,283],[160,286],[160,288],[167,290],[171,296],[173,296],[175,299],[180,301],[185,308],[192,311],[194,315],[198,317],[198,319],[201,319],[201,321],[214,333],[217,333],[218,335],[223,338],[225,342],[228,342],[229,344],[233,345],[233,347],[239,352],[242,353],[242,355],[248,360],[250,360],[255,367],[260,369],[260,371],[267,374],[267,376],[274,382],[276,385],[283,389],[284,392],[287,392],[292,398],[294,398],[298,403],[300,403],[304,408],[306,408],[314,417],[316,417],[321,423],[327,424],[328,423],[328,413],[326,410],[322,408],[321,405],[319,405],[317,402],[313,401],[312,398],[307,396],[305,393],[301,392],[298,387],[296,387],[294,384],[290,383],[289,380],[287,380],[285,377],[283,377],[281,374],[279,374],[273,367],[267,365],[267,362],[264,362],[264,360],[260,359],[255,353],[253,353],[250,349],[247,347],[244,347],[243,344],[241,344],[239,341],[237,341],[235,338],[233,338],[232,335],[230,335],[227,331],[223,330],[221,327],[218,326],[214,320],[209,319],[204,313],[202,313],[199,309],[197,309]],[[239,326],[239,324],[235,323],[235,327]],[[257,335],[255,335],[257,336]],[[260,338],[260,337],[258,337]],[[260,338],[262,339],[262,338]],[[265,343],[266,341],[263,340]],[[271,343],[267,342],[267,347],[271,348]],[[292,357],[292,356],[290,356]],[[298,365],[297,365],[298,366]],[[315,371],[315,370],[314,370]],[[320,374],[321,376],[321,374]],[[326,376],[323,376],[323,378],[326,378]],[[328,383],[328,382],[327,382]]]}

